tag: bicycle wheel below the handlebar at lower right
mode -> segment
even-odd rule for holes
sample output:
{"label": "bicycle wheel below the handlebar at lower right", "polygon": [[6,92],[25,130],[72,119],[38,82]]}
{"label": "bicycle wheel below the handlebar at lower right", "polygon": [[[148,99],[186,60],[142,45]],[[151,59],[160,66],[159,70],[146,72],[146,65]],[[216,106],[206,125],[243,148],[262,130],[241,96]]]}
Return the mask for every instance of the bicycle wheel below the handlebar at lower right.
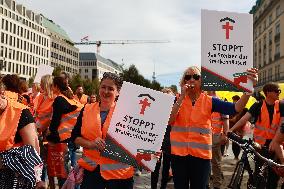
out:
{"label": "bicycle wheel below the handlebar at lower right", "polygon": [[232,189],[240,189],[241,188],[241,183],[243,179],[243,174],[244,174],[244,167],[245,164],[243,162],[238,162],[237,166],[235,168],[234,174],[231,178],[230,184],[228,188]]}

